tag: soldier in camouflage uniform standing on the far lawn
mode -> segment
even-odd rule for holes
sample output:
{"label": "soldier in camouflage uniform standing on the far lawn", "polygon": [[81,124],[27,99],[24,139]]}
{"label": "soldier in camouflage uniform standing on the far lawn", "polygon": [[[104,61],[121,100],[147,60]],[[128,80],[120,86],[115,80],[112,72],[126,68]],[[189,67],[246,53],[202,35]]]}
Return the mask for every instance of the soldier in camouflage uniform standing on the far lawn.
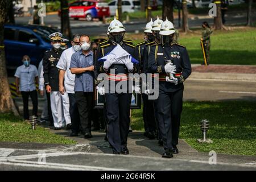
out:
{"label": "soldier in camouflage uniform standing on the far lawn", "polygon": [[204,48],[205,48],[205,56],[207,59],[207,65],[209,65],[209,62],[210,62],[210,35],[212,34],[213,30],[210,29],[210,26],[207,22],[203,22],[202,27],[203,27],[203,30],[201,31],[201,33],[202,33],[201,40],[203,41]]}

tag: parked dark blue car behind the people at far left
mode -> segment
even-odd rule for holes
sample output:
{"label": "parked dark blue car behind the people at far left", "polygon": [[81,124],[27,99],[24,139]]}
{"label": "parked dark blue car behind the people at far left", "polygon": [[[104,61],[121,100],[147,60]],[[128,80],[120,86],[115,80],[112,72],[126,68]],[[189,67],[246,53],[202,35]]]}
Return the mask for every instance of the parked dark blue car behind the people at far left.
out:
{"label": "parked dark blue car behind the people at far left", "polygon": [[38,64],[44,52],[51,49],[48,36],[57,32],[54,28],[38,25],[5,25],[5,54],[7,69],[22,65],[22,57],[30,56],[31,64]]}

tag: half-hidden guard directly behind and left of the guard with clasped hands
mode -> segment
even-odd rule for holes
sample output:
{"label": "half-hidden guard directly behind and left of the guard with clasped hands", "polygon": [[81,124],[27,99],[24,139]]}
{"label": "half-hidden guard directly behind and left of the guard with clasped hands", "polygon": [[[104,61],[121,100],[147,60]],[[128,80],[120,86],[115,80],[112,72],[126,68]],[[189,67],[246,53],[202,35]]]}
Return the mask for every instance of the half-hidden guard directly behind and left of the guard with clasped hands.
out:
{"label": "half-hidden guard directly behind and left of the guard with clasped hands", "polygon": [[[139,43],[136,45],[139,53],[139,62],[140,62],[140,72],[147,74],[146,62],[148,58],[148,46],[154,44],[154,35],[152,34],[152,26],[153,22],[152,19],[149,23],[146,24],[146,28],[144,30],[144,42]],[[147,84],[142,83],[142,84]],[[155,114],[154,114],[154,101],[148,100],[148,95],[146,93],[142,93],[142,100],[143,100],[143,121],[144,121],[144,136],[148,137],[148,139],[155,139],[156,135],[156,121],[155,121]]]}

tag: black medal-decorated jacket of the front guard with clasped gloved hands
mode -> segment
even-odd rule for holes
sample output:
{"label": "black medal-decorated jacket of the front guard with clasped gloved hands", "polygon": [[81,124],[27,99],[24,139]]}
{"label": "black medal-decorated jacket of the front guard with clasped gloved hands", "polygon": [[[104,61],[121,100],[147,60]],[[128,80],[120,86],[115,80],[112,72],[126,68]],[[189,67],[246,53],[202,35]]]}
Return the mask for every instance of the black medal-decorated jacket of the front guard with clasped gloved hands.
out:
{"label": "black medal-decorated jacket of the front guard with clasped gloved hands", "polygon": [[[175,85],[171,82],[165,81],[167,73],[164,69],[166,60],[172,60],[176,66],[176,77],[178,84]],[[155,44],[150,46],[150,53],[148,56],[148,72],[159,73],[159,90],[164,92],[175,92],[176,90],[183,89],[183,82],[191,75],[191,63],[189,60],[187,49],[180,44],[172,44],[169,47],[164,47],[162,44]]]}

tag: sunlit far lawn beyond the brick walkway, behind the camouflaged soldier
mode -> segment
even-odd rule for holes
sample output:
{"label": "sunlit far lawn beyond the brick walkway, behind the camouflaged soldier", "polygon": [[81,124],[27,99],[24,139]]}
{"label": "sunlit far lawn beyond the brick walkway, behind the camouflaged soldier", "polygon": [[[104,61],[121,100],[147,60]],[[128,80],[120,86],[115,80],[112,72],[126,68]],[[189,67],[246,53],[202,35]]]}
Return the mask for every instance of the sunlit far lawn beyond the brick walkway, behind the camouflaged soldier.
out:
{"label": "sunlit far lawn beyond the brick walkway, behind the camouflaged soldier", "polygon": [[[251,30],[214,31],[211,36],[211,64],[256,65],[256,28]],[[191,63],[202,63],[200,35],[180,38],[187,47]]]}

